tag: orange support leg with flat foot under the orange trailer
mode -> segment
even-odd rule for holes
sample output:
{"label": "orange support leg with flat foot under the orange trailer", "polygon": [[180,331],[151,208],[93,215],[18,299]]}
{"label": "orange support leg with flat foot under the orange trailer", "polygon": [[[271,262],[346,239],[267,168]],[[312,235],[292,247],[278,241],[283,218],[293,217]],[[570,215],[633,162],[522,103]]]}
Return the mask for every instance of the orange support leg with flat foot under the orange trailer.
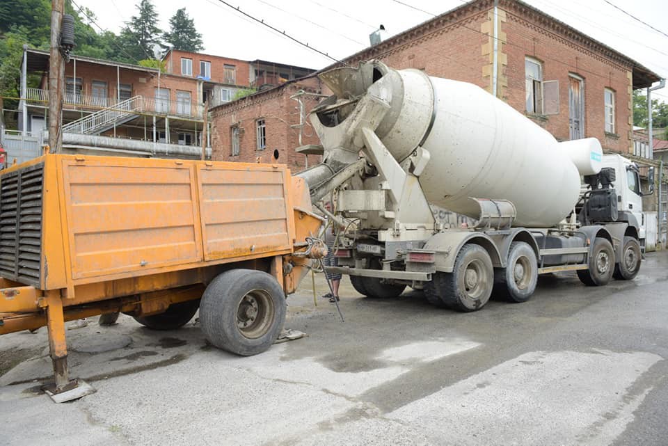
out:
{"label": "orange support leg with flat foot under the orange trailer", "polygon": [[70,381],[70,367],[67,365],[67,339],[65,337],[65,314],[59,289],[46,292],[47,329],[49,330],[49,351],[54,365],[54,384],[45,385],[44,390],[56,403],[72,401],[95,392],[82,380]]}

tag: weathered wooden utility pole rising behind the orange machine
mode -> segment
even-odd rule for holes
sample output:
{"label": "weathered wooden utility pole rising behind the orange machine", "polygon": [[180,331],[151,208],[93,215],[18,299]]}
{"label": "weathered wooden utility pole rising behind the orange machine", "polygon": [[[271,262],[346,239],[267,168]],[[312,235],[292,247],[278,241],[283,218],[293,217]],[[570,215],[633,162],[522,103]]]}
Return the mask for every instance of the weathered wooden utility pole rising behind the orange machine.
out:
{"label": "weathered wooden utility pole rising behind the orange machine", "polygon": [[[63,135],[63,91],[65,90],[65,63],[61,54],[61,24],[65,0],[51,0],[51,57],[49,58],[49,148],[61,152]],[[75,87],[76,89],[76,87]],[[25,118],[24,118],[25,119]]]}

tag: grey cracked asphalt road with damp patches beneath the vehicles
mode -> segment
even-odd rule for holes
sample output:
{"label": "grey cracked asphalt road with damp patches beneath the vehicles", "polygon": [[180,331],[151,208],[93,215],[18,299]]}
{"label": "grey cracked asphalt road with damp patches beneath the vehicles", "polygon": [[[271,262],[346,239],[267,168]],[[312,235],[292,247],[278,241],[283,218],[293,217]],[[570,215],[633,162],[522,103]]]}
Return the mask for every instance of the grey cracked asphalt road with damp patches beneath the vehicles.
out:
{"label": "grey cracked asphalt road with damp patches beneath the vehicles", "polygon": [[[93,395],[54,404],[45,329],[0,337],[0,445],[668,444],[668,253],[631,282],[541,277],[531,301],[459,314],[417,292],[361,298],[342,323],[289,298],[308,336],[239,358],[192,322],[129,317],[68,331],[72,375]],[[325,292],[317,281],[317,292]]]}

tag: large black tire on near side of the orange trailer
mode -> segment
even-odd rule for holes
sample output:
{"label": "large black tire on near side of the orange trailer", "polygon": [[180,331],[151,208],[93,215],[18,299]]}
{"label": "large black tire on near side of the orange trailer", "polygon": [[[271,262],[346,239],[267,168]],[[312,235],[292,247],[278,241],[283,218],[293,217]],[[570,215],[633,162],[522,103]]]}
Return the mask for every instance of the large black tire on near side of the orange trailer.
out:
{"label": "large black tire on near side of the orange trailer", "polygon": [[200,324],[205,337],[219,349],[240,356],[269,349],[284,323],[283,289],[264,271],[225,271],[202,296]]}

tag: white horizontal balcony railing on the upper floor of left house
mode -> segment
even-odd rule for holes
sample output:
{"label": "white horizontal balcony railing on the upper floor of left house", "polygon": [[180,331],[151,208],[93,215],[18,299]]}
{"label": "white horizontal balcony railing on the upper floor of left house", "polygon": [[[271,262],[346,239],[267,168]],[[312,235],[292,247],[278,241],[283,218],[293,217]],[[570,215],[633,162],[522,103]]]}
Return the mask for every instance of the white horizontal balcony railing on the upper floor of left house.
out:
{"label": "white horizontal balcony railing on the upper floor of left house", "polygon": [[[27,102],[46,104],[49,102],[49,91],[41,88],[28,88],[26,92]],[[122,99],[121,102],[127,99]],[[118,105],[116,97],[97,97],[81,95],[79,93],[65,93],[63,102],[66,109],[106,109]],[[142,97],[143,113],[174,116],[177,118],[202,119],[204,106],[190,101],[172,101],[168,99],[156,99],[154,97]]]}

